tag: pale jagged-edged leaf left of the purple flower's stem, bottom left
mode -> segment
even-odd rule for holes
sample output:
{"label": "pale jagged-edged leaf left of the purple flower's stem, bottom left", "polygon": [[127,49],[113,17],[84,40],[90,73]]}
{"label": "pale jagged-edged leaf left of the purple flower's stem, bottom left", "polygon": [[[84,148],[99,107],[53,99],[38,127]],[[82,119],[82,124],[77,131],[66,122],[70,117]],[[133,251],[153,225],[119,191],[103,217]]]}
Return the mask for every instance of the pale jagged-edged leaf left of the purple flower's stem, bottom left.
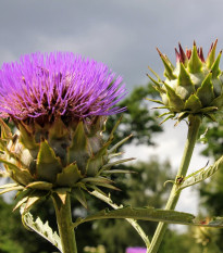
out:
{"label": "pale jagged-edged leaf left of the purple flower's stem, bottom left", "polygon": [[21,214],[23,223],[26,227],[47,239],[54,246],[57,246],[60,252],[62,252],[61,239],[55,231],[52,231],[48,222],[44,224],[39,217],[34,220],[33,215],[29,212],[24,213],[24,210],[21,211]]}

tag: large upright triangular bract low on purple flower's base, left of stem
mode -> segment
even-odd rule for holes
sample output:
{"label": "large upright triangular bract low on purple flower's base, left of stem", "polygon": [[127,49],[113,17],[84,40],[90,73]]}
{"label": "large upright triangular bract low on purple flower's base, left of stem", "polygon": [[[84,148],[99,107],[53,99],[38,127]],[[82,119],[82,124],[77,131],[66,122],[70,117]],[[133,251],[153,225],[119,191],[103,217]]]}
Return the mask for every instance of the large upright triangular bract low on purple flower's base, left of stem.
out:
{"label": "large upright triangular bract low on purple flower's base, left of stem", "polygon": [[62,172],[60,159],[55,156],[54,151],[50,148],[47,140],[40,143],[37,155],[37,177],[40,180],[54,182],[57,175]]}

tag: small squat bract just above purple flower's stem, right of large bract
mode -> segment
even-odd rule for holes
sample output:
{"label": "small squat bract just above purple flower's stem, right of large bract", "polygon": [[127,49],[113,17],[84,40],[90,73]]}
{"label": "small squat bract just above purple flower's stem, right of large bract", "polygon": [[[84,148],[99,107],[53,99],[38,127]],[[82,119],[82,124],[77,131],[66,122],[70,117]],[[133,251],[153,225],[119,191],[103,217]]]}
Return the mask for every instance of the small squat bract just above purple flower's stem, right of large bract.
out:
{"label": "small squat bract just above purple flower's stem, right of large bract", "polygon": [[76,163],[70,164],[63,168],[62,173],[57,176],[57,185],[62,187],[74,187],[83,176]]}

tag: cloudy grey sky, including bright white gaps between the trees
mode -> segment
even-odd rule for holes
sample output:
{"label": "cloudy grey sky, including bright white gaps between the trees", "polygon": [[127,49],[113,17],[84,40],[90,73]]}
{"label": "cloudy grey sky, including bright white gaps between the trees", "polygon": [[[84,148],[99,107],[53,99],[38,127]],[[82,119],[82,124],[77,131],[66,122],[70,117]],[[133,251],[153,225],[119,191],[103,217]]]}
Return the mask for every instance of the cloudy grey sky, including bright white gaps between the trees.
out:
{"label": "cloudy grey sky, including bright white gaps between the trees", "polygon": [[[173,62],[178,41],[191,47],[196,40],[207,53],[218,38],[223,48],[222,10],[222,0],[0,0],[0,65],[36,51],[73,51],[108,64],[131,91],[147,84],[148,65],[162,74],[156,47]],[[177,166],[186,129],[172,122],[165,129],[156,150],[141,147],[141,159],[160,153]],[[189,203],[186,197],[183,206]]]}

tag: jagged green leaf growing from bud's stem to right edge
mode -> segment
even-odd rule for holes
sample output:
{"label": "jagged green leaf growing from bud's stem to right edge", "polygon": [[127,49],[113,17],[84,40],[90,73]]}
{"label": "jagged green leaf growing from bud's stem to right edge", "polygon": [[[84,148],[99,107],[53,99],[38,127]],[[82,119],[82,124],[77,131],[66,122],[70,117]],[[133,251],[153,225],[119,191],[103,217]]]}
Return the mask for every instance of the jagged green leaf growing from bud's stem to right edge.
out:
{"label": "jagged green leaf growing from bud's stem to right edge", "polygon": [[208,168],[199,169],[199,173],[193,173],[191,175],[187,176],[186,179],[178,188],[178,190],[183,190],[187,187],[194,186],[200,181],[206,180],[207,178],[211,177],[216,170],[223,167],[223,156],[221,156],[213,165]]}

